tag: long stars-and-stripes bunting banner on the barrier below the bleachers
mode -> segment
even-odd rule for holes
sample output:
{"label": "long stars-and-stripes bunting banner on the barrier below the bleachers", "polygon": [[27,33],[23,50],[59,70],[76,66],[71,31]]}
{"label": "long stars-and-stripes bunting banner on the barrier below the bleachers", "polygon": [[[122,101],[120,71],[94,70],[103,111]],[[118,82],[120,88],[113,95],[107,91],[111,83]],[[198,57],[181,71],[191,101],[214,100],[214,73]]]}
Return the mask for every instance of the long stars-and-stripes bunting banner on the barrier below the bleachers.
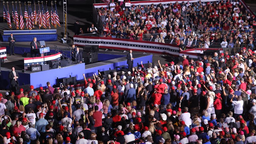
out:
{"label": "long stars-and-stripes bunting banner on the barrier below the bleachers", "polygon": [[101,49],[126,51],[132,49],[133,51],[139,52],[179,56],[179,47],[177,45],[149,41],[74,35],[74,44],[77,46],[98,45]]}

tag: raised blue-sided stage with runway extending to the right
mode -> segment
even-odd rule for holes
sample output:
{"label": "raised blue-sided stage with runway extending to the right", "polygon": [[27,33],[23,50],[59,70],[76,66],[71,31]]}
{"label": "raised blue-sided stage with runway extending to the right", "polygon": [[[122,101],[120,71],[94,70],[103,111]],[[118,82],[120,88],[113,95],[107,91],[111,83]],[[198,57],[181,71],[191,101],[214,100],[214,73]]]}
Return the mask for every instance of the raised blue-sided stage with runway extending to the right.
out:
{"label": "raised blue-sided stage with runway extending to the right", "polygon": [[[8,48],[7,48],[8,49]],[[16,47],[15,47],[16,49]],[[24,48],[27,49],[27,48]],[[8,51],[8,50],[7,50]],[[19,51],[19,50],[15,50]],[[74,64],[61,67],[59,69],[50,69],[46,71],[31,72],[30,69],[26,72],[22,72],[24,69],[24,57],[21,54],[16,54],[15,56],[8,56],[8,61],[5,61],[1,64],[1,83],[0,89],[10,89],[10,80],[8,78],[11,67],[15,66],[15,71],[19,73],[19,84],[30,84],[35,88],[44,87],[46,88],[46,82],[50,82],[51,85],[56,85],[57,78],[68,78],[76,77],[77,80],[83,80],[83,73],[86,77],[91,77],[93,73],[98,73],[98,71],[113,70],[117,66],[127,65],[126,64],[126,55],[128,53],[122,52],[112,52],[112,51],[99,51],[98,52],[98,61],[97,63],[85,65],[85,63]],[[137,63],[152,62],[152,55],[133,53],[134,64],[136,67]]]}

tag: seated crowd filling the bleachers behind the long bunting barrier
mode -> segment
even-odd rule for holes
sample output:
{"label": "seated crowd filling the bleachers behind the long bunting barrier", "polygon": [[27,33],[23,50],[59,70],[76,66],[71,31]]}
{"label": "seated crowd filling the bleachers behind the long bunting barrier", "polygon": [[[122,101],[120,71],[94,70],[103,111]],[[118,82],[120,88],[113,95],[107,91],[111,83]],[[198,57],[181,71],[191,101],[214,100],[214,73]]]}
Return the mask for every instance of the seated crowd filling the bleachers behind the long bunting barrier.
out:
{"label": "seated crowd filling the bleachers behind the long bunting barrier", "polygon": [[109,9],[97,9],[104,24],[104,36],[194,48],[253,48],[255,45],[255,15],[237,0],[204,4],[200,0],[183,1],[170,3],[168,7],[161,3],[125,7],[126,2],[130,0],[112,1]]}

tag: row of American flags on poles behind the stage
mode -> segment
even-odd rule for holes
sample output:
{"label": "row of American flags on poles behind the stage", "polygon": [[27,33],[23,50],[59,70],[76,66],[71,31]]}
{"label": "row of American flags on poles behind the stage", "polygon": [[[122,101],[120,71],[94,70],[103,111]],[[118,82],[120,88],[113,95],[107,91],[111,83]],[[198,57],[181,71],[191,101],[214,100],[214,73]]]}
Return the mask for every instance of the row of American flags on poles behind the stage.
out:
{"label": "row of American flags on poles behind the stage", "polygon": [[[28,11],[27,11],[27,6],[25,2],[25,13],[24,13],[24,18],[25,18],[25,24],[23,20],[23,15],[22,15],[22,10],[21,10],[21,5],[20,5],[20,14],[18,14],[17,10],[17,3],[16,3],[16,8],[14,8],[14,5],[12,3],[12,21],[11,21],[11,16],[9,13],[9,6],[8,2],[7,3],[7,9],[4,4],[4,20],[7,21],[7,25],[9,28],[12,28],[12,22],[15,25],[15,28],[23,30],[26,24],[26,28],[31,30],[35,28],[35,25],[39,27],[39,29],[51,29],[51,24],[56,28],[57,26],[60,26],[60,20],[57,12],[57,6],[55,4],[55,10],[53,9],[53,5],[51,5],[51,15],[48,11],[48,7],[46,5],[46,10],[44,10],[44,5],[41,4],[42,10],[40,9],[40,4],[38,3],[38,11],[37,11],[37,4],[34,4],[34,11],[32,10],[31,4],[28,4]],[[51,22],[50,22],[51,18]]]}

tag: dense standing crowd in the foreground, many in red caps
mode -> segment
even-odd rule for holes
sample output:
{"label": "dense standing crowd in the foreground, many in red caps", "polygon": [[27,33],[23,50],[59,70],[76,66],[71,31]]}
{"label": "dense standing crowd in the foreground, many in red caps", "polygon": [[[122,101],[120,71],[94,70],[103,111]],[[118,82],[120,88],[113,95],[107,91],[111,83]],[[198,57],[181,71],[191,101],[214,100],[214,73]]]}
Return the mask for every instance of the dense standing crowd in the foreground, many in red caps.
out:
{"label": "dense standing crowd in the foreground, many in red caps", "polygon": [[[142,62],[141,62],[142,64]],[[256,53],[84,76],[0,94],[3,144],[247,144],[256,141]]]}

